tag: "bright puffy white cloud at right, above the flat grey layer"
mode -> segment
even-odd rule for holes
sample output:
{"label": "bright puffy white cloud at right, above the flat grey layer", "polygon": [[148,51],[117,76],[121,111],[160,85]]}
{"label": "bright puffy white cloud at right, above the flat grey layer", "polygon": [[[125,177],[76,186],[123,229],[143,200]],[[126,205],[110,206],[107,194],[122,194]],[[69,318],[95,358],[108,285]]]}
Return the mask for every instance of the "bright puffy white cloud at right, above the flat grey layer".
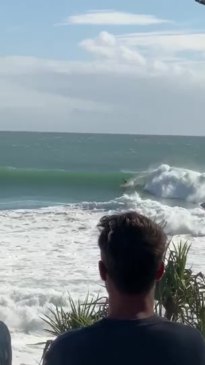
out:
{"label": "bright puffy white cloud at right, above the flat grey layer", "polygon": [[[205,42],[201,42],[204,35],[191,34],[190,41],[188,34],[180,34],[179,39],[178,36],[153,32],[114,36],[101,32],[94,39],[85,39],[80,46],[97,60],[103,60],[104,65],[114,63],[114,72],[120,69],[121,72],[149,76],[184,74],[198,80],[203,78],[204,82]],[[198,53],[201,53],[200,58]]]}

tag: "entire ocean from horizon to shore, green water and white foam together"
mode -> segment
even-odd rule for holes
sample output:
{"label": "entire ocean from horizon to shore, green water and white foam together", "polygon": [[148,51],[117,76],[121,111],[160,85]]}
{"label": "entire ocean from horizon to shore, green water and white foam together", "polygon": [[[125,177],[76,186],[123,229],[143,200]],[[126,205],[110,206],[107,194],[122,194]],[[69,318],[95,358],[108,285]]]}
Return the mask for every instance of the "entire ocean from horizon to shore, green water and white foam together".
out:
{"label": "entire ocean from horizon to shore, green water and white foam together", "polygon": [[0,133],[0,319],[14,363],[39,363],[42,315],[102,291],[96,225],[134,209],[192,244],[205,271],[205,138]]}

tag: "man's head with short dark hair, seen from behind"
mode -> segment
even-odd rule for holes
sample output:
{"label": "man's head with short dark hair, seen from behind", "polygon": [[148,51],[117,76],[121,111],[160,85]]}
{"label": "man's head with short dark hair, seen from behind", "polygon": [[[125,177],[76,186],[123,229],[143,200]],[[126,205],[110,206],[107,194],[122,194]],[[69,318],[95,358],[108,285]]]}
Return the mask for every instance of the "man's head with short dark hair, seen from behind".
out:
{"label": "man's head with short dark hair, seen from behind", "polygon": [[166,235],[149,218],[136,212],[105,216],[98,225],[101,278],[125,295],[150,292],[163,271]]}

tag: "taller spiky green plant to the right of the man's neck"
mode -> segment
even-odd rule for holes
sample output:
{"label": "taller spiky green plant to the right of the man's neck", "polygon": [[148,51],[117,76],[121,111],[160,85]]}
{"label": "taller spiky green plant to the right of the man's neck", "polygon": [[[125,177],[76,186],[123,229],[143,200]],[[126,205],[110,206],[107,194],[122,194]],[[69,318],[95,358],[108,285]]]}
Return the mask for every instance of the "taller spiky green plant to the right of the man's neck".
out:
{"label": "taller spiky green plant to the right of the man's neck", "polygon": [[198,328],[205,336],[205,276],[187,268],[190,245],[168,249],[166,271],[156,287],[156,312],[170,321]]}

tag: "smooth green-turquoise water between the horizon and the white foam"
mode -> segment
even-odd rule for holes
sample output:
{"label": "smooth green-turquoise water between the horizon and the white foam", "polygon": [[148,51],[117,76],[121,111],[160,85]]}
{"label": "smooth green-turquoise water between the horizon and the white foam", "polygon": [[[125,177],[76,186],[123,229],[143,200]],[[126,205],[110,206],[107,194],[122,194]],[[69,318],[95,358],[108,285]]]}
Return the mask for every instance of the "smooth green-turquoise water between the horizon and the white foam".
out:
{"label": "smooth green-turquoise water between the horizon and the white foam", "polygon": [[198,137],[1,132],[0,207],[106,202],[162,164],[203,171],[204,156]]}

